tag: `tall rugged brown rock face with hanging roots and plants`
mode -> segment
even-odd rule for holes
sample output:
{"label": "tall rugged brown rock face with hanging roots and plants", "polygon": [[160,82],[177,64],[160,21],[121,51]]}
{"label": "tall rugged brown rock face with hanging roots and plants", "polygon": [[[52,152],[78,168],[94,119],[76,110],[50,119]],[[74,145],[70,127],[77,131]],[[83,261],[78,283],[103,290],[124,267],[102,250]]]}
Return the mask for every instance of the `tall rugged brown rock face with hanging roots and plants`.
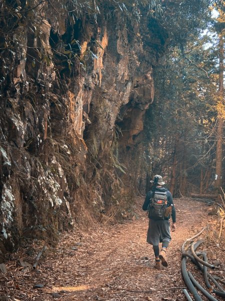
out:
{"label": "tall rugged brown rock face with hanging roots and plants", "polygon": [[20,237],[54,243],[58,232],[118,204],[115,150],[141,140],[154,97],[152,68],[167,40],[156,21],[121,22],[113,8],[97,21],[63,12],[57,19],[58,10],[22,1],[2,9],[1,252]]}

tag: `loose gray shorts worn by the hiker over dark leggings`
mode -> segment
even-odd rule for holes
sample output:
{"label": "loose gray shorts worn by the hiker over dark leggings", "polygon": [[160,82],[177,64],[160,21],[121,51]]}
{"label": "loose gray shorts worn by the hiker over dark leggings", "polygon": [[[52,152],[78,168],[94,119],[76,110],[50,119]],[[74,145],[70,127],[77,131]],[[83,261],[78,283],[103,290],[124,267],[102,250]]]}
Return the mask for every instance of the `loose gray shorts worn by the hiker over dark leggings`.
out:
{"label": "loose gray shorts worn by the hiker over dark leggings", "polygon": [[169,220],[152,220],[149,219],[147,229],[147,243],[156,246],[159,242],[170,241]]}

